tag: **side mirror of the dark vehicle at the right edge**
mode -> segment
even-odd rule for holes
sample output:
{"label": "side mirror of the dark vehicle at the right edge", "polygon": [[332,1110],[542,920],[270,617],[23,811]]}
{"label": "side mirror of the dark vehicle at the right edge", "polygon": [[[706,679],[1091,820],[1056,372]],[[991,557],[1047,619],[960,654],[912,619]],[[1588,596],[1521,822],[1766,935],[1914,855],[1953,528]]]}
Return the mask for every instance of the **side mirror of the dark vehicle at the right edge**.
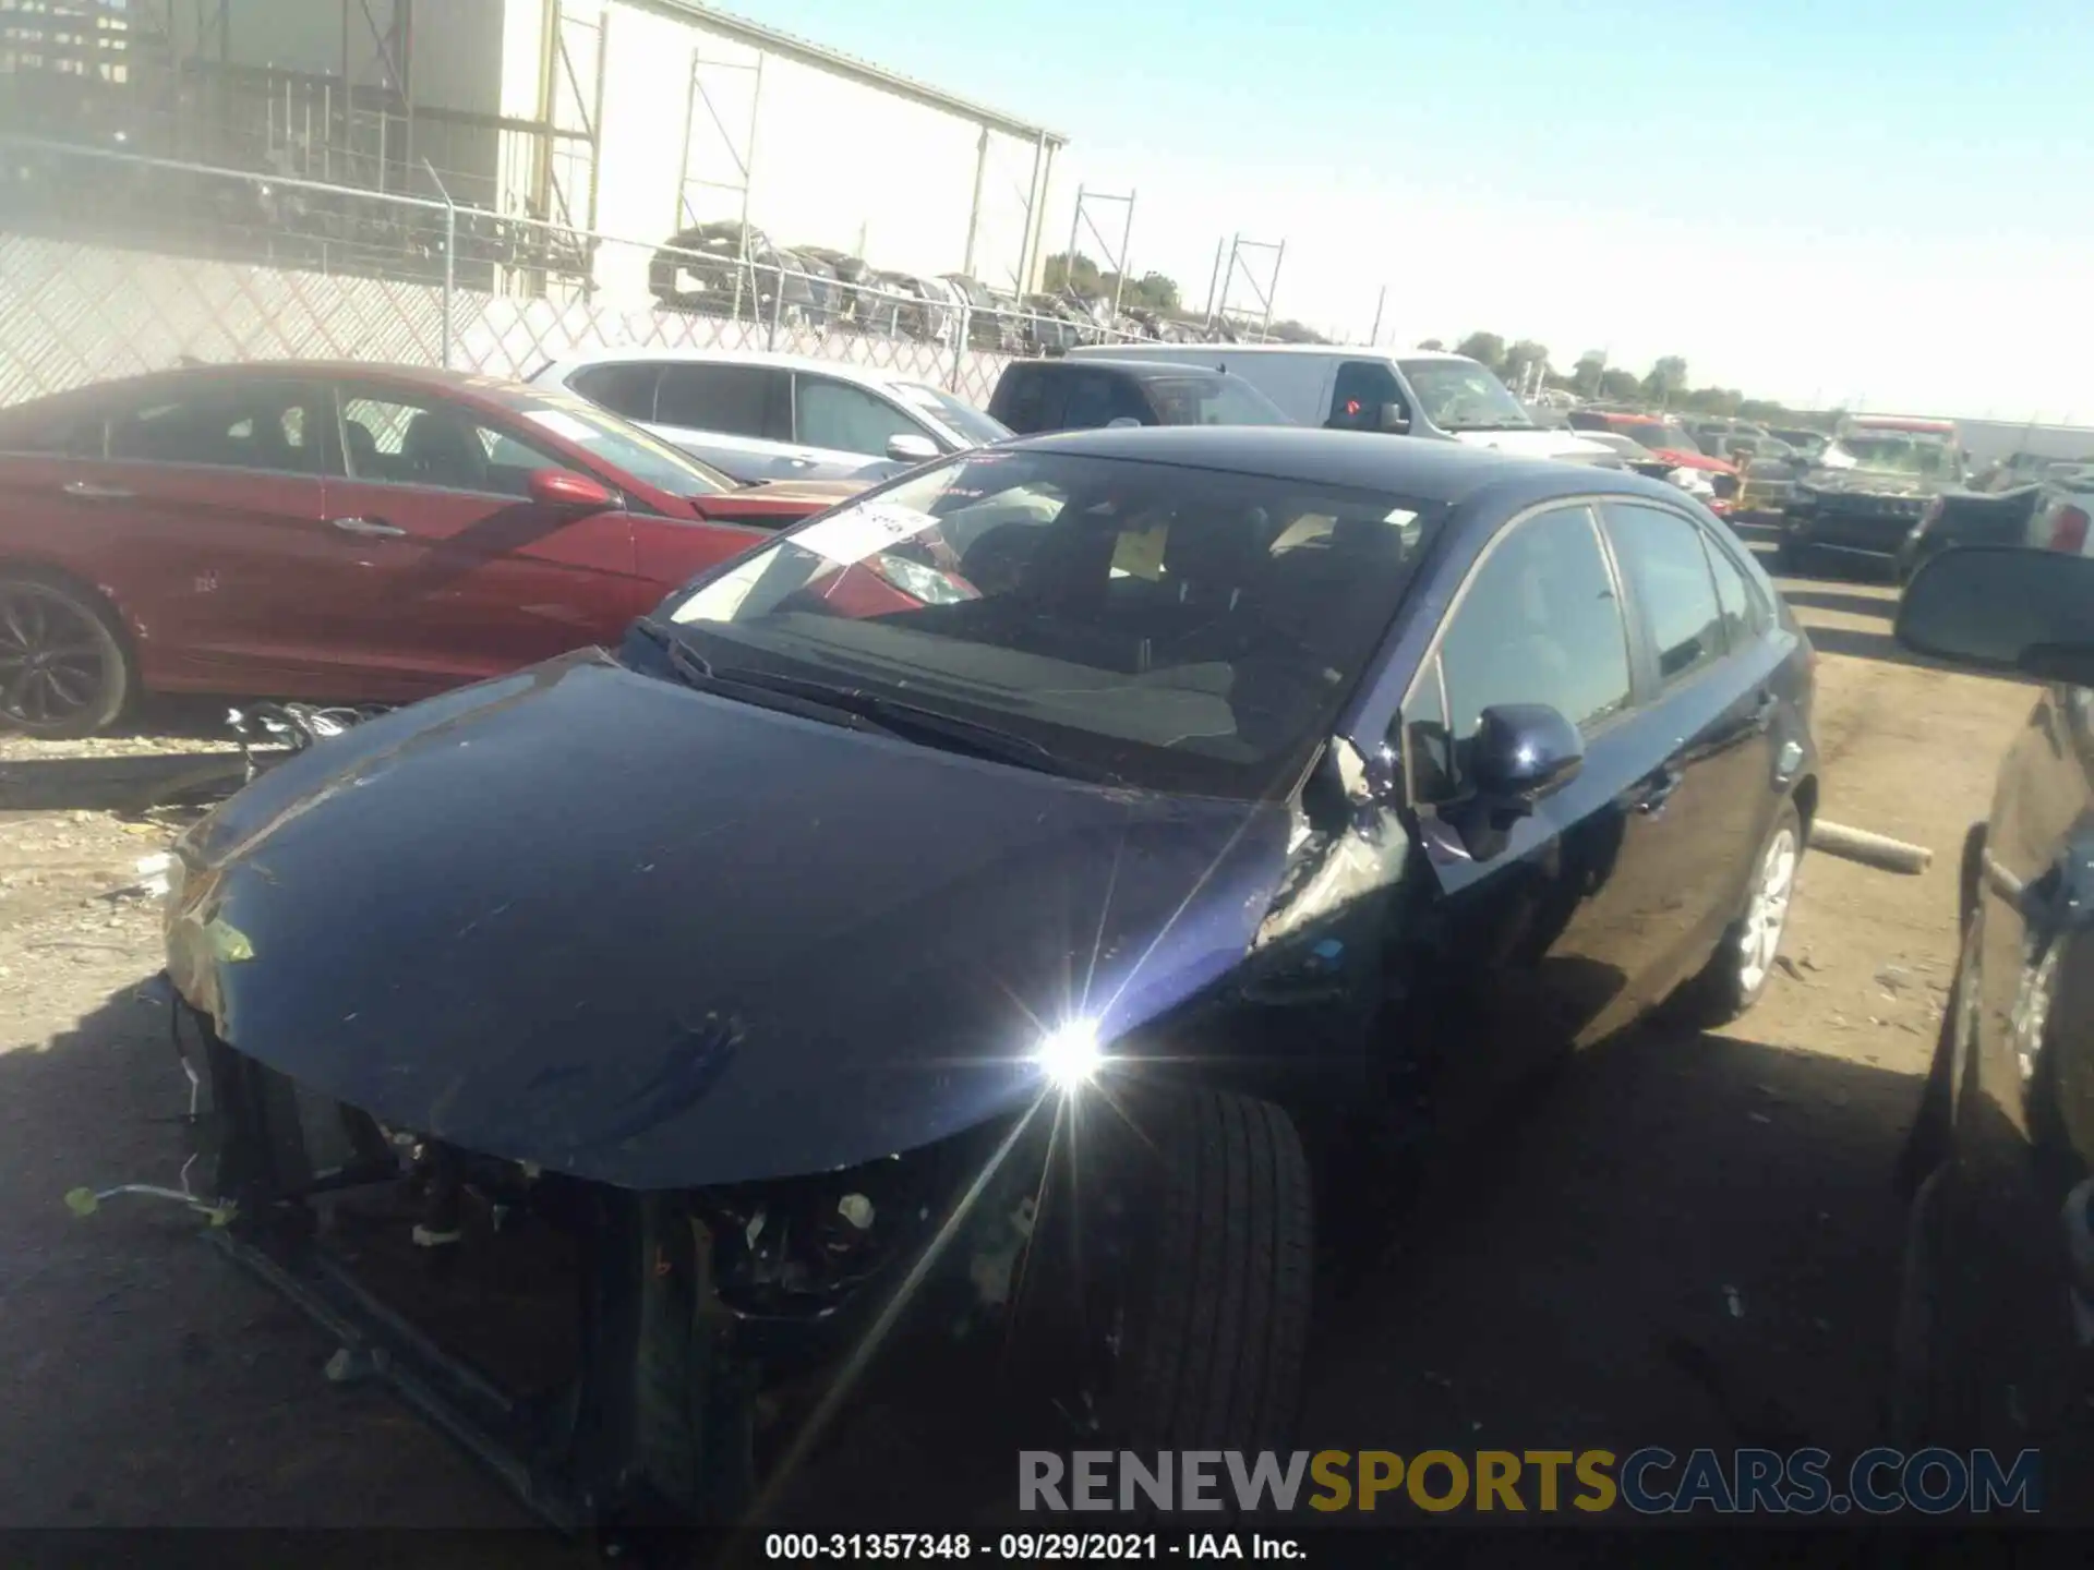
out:
{"label": "side mirror of the dark vehicle at the right edge", "polygon": [[2019,544],[1943,551],[1906,584],[1897,641],[1968,670],[2094,687],[2094,557]]}

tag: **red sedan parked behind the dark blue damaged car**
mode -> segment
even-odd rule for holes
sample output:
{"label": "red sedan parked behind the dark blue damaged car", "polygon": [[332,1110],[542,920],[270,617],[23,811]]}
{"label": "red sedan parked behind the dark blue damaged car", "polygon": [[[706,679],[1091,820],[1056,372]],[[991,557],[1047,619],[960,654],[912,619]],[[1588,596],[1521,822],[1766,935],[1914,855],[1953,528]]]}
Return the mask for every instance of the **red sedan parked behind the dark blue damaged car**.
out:
{"label": "red sedan parked behind the dark blue damaged car", "polygon": [[138,693],[394,703],[624,626],[861,490],[737,488],[578,398],[270,362],[0,410],[0,722]]}

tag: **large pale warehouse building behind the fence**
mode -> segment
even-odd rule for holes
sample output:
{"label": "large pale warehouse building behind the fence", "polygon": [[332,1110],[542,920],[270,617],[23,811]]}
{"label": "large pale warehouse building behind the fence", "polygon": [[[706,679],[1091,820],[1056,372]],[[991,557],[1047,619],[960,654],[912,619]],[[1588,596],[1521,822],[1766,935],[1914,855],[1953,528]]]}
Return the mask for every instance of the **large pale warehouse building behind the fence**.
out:
{"label": "large pale warehouse building behind the fence", "polygon": [[1034,287],[1066,142],[693,0],[0,0],[0,40],[4,130],[570,224],[630,241],[614,291],[741,218]]}

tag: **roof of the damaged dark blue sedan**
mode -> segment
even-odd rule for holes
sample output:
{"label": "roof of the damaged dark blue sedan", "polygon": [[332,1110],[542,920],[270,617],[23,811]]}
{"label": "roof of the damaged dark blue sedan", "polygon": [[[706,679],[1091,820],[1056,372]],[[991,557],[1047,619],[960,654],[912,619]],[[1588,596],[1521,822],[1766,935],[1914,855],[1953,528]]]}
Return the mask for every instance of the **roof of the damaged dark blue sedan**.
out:
{"label": "roof of the damaged dark blue sedan", "polygon": [[1137,425],[1053,431],[1003,442],[997,450],[1011,448],[1175,463],[1187,469],[1302,479],[1449,504],[1491,488],[1503,488],[1512,504],[1596,492],[1652,496],[1667,502],[1677,502],[1681,496],[1673,486],[1617,469],[1512,458],[1464,442],[1376,431],[1323,431],[1307,425]]}

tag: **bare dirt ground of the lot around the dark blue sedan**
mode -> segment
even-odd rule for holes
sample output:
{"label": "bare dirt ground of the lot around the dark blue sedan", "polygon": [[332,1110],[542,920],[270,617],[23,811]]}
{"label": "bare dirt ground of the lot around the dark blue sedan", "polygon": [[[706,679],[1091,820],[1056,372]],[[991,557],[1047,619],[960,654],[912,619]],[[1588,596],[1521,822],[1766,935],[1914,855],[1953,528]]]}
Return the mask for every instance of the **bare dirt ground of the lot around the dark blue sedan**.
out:
{"label": "bare dirt ground of the lot around the dark blue sedan", "polygon": [[[1906,659],[1883,586],[1784,590],[1822,651],[1824,816],[1929,846],[1931,871],[1805,858],[1788,965],[1740,1026],[1596,1049],[1447,1172],[1401,1250],[1321,1304],[1315,1446],[1878,1432],[1891,1160],[1950,982],[1962,833],[2031,697]],[[387,1394],[329,1386],[331,1344],[195,1220],[63,1204],[180,1166],[184,1082],[138,992],[157,906],[124,890],[180,823],[140,810],[142,775],[226,764],[203,739],[220,720],[0,739],[0,1526],[517,1524]]]}

